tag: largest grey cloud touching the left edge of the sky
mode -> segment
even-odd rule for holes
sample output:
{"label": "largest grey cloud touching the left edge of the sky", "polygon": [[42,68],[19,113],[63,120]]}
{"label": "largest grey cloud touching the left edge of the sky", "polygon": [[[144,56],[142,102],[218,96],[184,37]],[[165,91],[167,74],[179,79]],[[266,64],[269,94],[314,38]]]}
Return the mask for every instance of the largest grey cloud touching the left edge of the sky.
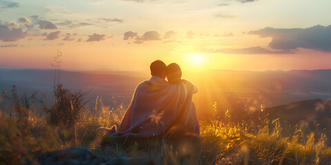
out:
{"label": "largest grey cloud touching the left edge of the sky", "polygon": [[26,34],[23,32],[22,28],[17,27],[14,23],[3,23],[0,20],[0,40],[5,42],[17,41],[19,39],[24,39]]}

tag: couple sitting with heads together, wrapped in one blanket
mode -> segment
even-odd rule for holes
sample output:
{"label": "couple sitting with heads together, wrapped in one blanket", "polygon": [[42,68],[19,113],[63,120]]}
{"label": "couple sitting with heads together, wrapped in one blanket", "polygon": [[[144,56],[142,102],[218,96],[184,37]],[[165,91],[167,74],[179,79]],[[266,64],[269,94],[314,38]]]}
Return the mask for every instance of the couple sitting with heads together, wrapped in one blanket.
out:
{"label": "couple sitting with heads together, wrapped in one blanket", "polygon": [[167,66],[162,61],[154,61],[150,72],[150,80],[140,83],[134,91],[119,129],[113,126],[108,133],[121,137],[199,138],[199,123],[192,102],[197,87],[181,79],[181,68],[176,63]]}

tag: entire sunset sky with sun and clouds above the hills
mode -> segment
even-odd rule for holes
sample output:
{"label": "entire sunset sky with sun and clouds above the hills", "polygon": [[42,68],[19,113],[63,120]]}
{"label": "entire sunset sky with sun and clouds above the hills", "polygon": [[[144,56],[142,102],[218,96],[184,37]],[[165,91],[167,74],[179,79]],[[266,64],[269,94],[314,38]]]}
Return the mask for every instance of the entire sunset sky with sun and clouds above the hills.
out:
{"label": "entire sunset sky with sun and clouds above the hills", "polygon": [[329,0],[0,0],[0,65],[331,69]]}

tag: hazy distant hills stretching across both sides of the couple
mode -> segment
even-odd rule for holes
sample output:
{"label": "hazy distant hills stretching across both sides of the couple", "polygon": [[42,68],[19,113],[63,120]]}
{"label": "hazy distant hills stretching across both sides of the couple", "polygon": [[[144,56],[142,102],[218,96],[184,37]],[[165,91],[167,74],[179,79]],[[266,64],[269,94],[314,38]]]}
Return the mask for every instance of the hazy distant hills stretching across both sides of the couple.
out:
{"label": "hazy distant hills stretching across both sides of the couple", "polygon": [[[135,87],[149,78],[149,73],[144,75],[145,77],[132,72],[61,71],[60,83],[72,91],[93,89],[87,95],[92,100],[99,95],[102,96],[105,104],[110,104],[114,97],[117,102],[128,105]],[[268,111],[274,116],[293,121],[312,120],[316,108],[314,104],[331,98],[331,69],[288,72],[211,70],[203,73],[183,73],[183,75],[199,87],[199,93],[193,97],[199,118],[211,113],[214,103],[217,102],[219,115],[223,115],[223,112],[229,109],[238,120],[245,118],[247,113],[270,107],[273,108]],[[55,75],[57,81],[58,77],[57,73]],[[52,69],[0,69],[0,91],[5,89],[10,91],[12,85],[17,85],[19,94],[32,94],[39,91],[39,96],[46,94],[50,100],[54,100],[52,99],[54,87],[54,70]],[[321,100],[314,100],[317,98]],[[307,101],[309,104],[301,102],[303,100],[309,100]],[[291,102],[299,103],[290,104]],[[90,102],[90,104],[94,103]],[[295,107],[295,104],[299,104],[299,107]],[[279,105],[283,106],[277,107]],[[283,110],[291,106],[291,111]],[[301,118],[300,115],[308,117]],[[314,119],[327,119],[320,117],[317,115]]]}

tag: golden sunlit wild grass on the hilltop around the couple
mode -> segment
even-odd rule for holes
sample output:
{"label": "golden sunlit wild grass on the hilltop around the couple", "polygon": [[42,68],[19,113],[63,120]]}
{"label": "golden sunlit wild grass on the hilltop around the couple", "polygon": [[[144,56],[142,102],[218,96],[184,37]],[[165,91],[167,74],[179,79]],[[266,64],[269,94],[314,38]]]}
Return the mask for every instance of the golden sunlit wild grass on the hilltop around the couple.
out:
{"label": "golden sunlit wild grass on the hilltop around the couple", "polygon": [[[101,97],[93,108],[82,107],[79,120],[69,127],[49,124],[42,109],[35,104],[23,104],[18,96],[14,100],[0,100],[6,104],[0,107],[0,164],[23,164],[26,159],[36,162],[40,151],[72,146],[85,146],[94,153],[112,157],[147,155],[156,164],[182,161],[164,138],[150,140],[141,147],[139,142],[125,146],[114,138],[99,136],[97,128],[118,126],[126,111],[122,105],[103,104]],[[324,133],[305,134],[300,128],[290,129],[279,120],[268,120],[265,116],[261,116],[259,124],[232,122],[229,111],[217,115],[216,109],[214,104],[214,109],[210,109],[212,117],[200,121],[201,164],[328,164],[331,161],[330,140]],[[101,142],[106,146],[101,146]]]}

